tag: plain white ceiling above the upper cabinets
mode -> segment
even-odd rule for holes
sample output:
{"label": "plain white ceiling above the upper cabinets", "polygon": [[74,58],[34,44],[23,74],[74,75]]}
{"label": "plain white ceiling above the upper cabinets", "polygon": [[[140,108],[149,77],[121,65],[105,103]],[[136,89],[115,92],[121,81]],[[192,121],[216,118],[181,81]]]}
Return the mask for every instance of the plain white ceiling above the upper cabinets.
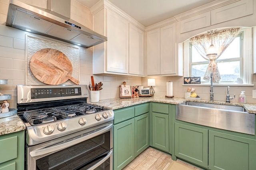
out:
{"label": "plain white ceiling above the upper cabinets", "polygon": [[[76,0],[91,8],[99,0]],[[214,0],[108,0],[140,24],[150,26]]]}

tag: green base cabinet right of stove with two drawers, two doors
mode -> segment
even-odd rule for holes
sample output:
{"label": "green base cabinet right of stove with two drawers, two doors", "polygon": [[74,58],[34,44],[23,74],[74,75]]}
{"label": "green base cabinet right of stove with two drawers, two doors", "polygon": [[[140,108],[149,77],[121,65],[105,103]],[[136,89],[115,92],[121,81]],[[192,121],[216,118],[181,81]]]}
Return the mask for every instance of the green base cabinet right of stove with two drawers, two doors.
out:
{"label": "green base cabinet right of stove with two drawers, two doors", "polygon": [[149,103],[114,110],[114,170],[121,170],[149,146]]}

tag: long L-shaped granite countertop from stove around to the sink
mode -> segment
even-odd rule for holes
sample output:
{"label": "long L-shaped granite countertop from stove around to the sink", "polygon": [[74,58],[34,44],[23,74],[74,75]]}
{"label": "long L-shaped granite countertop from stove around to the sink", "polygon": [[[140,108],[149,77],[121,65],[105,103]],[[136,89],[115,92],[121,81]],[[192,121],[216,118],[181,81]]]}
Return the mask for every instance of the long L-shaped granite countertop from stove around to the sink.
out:
{"label": "long L-shaped granite countertop from stove around to the sink", "polygon": [[[213,104],[219,104],[219,105],[243,106],[248,111],[248,113],[256,114],[256,104],[254,104],[254,103],[247,103],[247,104],[226,103],[225,101],[211,102],[209,100],[195,100],[195,99],[184,99],[184,98],[176,98],[176,97],[166,98],[166,97],[162,97],[162,96],[105,99],[105,100],[100,100],[99,102],[94,103],[94,104],[104,106],[108,109],[116,110],[116,109],[121,109],[124,107],[147,103],[150,101],[158,102],[158,103],[168,103],[168,104],[173,104],[173,105],[180,105],[181,103],[183,103],[185,101],[194,101],[194,102],[200,102],[200,103],[213,103]],[[91,103],[91,102],[88,101],[88,103]]]}

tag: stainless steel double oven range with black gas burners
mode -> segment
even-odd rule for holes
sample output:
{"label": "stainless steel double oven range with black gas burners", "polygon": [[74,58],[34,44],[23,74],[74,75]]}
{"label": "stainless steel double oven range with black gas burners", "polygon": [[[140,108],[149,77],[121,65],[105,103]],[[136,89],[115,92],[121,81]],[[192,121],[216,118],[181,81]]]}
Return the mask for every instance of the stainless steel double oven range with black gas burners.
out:
{"label": "stainless steel double oven range with black gas burners", "polygon": [[87,98],[87,85],[17,85],[27,170],[112,170],[114,112]]}

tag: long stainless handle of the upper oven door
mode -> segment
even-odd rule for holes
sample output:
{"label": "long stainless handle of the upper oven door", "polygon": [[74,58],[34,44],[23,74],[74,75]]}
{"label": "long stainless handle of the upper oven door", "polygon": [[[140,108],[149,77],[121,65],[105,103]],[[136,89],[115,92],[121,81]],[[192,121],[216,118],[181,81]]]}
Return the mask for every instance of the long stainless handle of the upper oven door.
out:
{"label": "long stainless handle of the upper oven door", "polygon": [[98,136],[100,134],[103,134],[105,132],[107,132],[108,130],[110,130],[111,128],[113,128],[113,124],[110,124],[104,128],[100,128],[100,130],[96,130],[96,132],[92,132],[92,133],[89,133],[88,135],[86,136],[81,136],[80,138],[74,138],[74,140],[71,140],[71,141],[68,141],[68,142],[64,142],[64,143],[61,143],[61,144],[58,144],[58,145],[53,145],[53,146],[49,146],[49,147],[42,147],[42,148],[38,148],[37,150],[33,150],[31,151],[29,154],[30,156],[32,157],[35,157],[35,156],[41,156],[41,155],[44,155],[44,154],[50,154],[50,153],[53,153],[53,152],[57,152],[59,150],[62,150],[64,148],[68,148],[69,146],[73,146],[75,144],[78,144],[80,142],[83,142],[85,140],[88,140],[90,138],[93,138],[95,136]]}

